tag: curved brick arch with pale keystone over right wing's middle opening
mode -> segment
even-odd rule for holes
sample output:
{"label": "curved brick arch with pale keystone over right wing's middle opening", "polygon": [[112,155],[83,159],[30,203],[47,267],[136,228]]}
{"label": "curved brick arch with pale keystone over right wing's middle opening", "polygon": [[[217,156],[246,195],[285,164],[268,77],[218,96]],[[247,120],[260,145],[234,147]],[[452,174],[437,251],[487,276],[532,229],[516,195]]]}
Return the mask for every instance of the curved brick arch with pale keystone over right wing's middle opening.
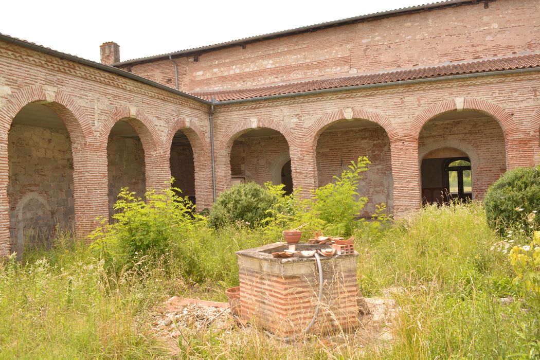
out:
{"label": "curved brick arch with pale keystone over right wing's middle opening", "polygon": [[350,112],[347,112],[346,109],[341,109],[325,114],[317,119],[315,123],[309,126],[308,134],[311,135],[310,137],[313,148],[315,149],[317,147],[317,142],[319,141],[319,137],[323,131],[325,131],[336,121],[346,119],[362,119],[372,121],[372,123],[381,126],[384,131],[386,131],[386,134],[391,142],[399,137],[399,133],[397,132],[394,124],[392,124],[392,121],[390,121],[390,119],[388,119],[386,116],[383,116],[382,114],[373,110],[355,107],[350,109]]}

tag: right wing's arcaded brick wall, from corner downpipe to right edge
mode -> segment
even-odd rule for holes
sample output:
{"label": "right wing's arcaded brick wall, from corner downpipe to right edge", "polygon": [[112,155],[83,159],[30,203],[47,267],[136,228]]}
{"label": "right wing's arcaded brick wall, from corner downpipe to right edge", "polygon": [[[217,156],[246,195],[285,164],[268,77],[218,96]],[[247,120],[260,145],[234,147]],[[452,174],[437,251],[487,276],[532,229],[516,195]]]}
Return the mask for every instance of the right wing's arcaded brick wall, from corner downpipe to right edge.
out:
{"label": "right wing's arcaded brick wall, from corner downpipe to right edge", "polygon": [[[505,155],[500,153],[505,157],[502,166],[513,168],[535,164],[540,125],[532,119],[536,119],[534,114],[540,106],[538,90],[535,90],[538,89],[538,79],[536,74],[473,78],[432,85],[394,86],[381,90],[343,91],[221,105],[214,117],[218,192],[230,184],[230,162],[220,160],[228,158],[227,139],[234,138],[233,134],[242,129],[266,126],[285,135],[292,159],[294,186],[302,188],[303,194],[307,195],[309,189],[319,185],[316,139],[330,124],[350,117],[373,121],[386,130],[390,140],[393,179],[392,210],[396,213],[409,212],[419,207],[421,200],[420,131],[438,114],[456,111],[456,104],[463,104],[463,110],[477,110],[498,120],[499,131],[505,139]],[[474,136],[478,128],[469,126],[464,131],[470,133],[463,134],[466,138]],[[475,142],[471,146],[479,144]],[[500,143],[494,144],[493,150],[500,152]],[[497,172],[500,172],[501,165],[498,167]],[[478,176],[481,178],[482,175]],[[481,181],[478,176],[477,181]],[[484,185],[476,188],[485,188],[485,184],[494,181],[494,176],[490,175],[483,181]]]}

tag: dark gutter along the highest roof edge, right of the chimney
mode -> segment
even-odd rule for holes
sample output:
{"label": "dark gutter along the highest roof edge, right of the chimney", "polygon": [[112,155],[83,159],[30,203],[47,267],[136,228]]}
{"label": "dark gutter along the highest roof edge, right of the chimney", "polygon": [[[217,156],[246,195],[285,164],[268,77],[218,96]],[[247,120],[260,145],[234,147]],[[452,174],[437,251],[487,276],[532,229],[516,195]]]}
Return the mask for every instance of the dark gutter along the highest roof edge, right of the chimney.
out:
{"label": "dark gutter along the highest roof edge, right of the chimney", "polygon": [[317,30],[321,30],[325,28],[333,28],[335,26],[357,23],[361,21],[372,21],[375,19],[380,19],[380,18],[385,18],[385,17],[399,16],[399,15],[403,15],[403,14],[411,13],[411,12],[433,10],[433,9],[438,9],[438,8],[448,8],[450,6],[456,6],[456,5],[476,5],[480,3],[485,4],[492,1],[496,1],[496,0],[447,0],[447,1],[430,3],[430,4],[424,4],[424,5],[409,6],[408,8],[374,12],[367,15],[349,17],[349,18],[345,18],[341,20],[329,21],[326,23],[320,23],[320,24],[315,24],[315,25],[302,26],[300,28],[295,28],[295,29],[271,32],[264,35],[251,36],[251,37],[242,38],[238,40],[232,40],[225,43],[194,47],[193,49],[186,49],[186,50],[165,53],[161,55],[154,55],[154,56],[148,56],[148,57],[143,57],[143,58],[126,60],[124,62],[112,64],[112,66],[124,66],[124,65],[148,63],[154,60],[161,60],[161,59],[164,60],[169,57],[200,55],[203,52],[224,49],[226,47],[232,47],[232,46],[240,46],[240,45],[253,43],[253,42],[257,42],[261,40],[268,40],[268,39],[273,39],[273,38],[278,38],[278,37],[283,37],[283,36],[289,36],[296,33],[312,32],[312,31],[317,31]]}

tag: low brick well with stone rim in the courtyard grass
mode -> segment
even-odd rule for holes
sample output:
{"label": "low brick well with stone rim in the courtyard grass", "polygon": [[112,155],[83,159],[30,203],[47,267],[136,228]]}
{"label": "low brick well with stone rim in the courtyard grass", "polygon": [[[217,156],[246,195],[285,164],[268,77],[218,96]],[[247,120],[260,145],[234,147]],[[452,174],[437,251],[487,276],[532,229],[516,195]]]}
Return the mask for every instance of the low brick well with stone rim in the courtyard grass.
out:
{"label": "low brick well with stone rim in the courtyard grass", "polygon": [[[298,244],[298,249],[302,246],[308,245]],[[241,318],[281,337],[300,335],[306,329],[319,293],[315,259],[279,259],[270,254],[284,247],[273,243],[237,252]],[[323,293],[309,334],[350,331],[359,325],[356,256],[321,256]]]}

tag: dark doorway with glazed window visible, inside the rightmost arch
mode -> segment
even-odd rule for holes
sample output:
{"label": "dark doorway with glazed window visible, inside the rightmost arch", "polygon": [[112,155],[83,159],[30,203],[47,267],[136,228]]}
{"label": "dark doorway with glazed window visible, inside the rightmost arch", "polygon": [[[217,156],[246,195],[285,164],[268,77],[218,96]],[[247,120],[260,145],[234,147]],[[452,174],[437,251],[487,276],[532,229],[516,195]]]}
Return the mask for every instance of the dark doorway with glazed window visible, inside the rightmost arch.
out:
{"label": "dark doorway with glazed window visible, inside the rightmost arch", "polygon": [[468,157],[424,159],[421,171],[424,205],[473,198],[473,178]]}

